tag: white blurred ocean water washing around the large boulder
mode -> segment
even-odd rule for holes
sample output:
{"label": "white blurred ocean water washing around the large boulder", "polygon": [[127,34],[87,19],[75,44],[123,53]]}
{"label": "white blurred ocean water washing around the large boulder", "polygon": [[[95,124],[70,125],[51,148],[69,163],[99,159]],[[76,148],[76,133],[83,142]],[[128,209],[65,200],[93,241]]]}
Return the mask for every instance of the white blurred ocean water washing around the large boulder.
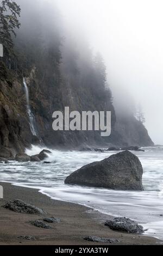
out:
{"label": "white blurred ocean water washing around the large boulder", "polygon": [[[0,163],[0,180],[18,186],[39,188],[58,200],[87,205],[106,215],[129,217],[148,229],[145,234],[163,240],[163,147],[136,152],[143,166],[144,191],[114,191],[103,188],[65,185],[65,178],[87,163],[100,161],[117,152],[97,153],[52,150],[45,163]],[[33,146],[27,154],[41,148]]]}

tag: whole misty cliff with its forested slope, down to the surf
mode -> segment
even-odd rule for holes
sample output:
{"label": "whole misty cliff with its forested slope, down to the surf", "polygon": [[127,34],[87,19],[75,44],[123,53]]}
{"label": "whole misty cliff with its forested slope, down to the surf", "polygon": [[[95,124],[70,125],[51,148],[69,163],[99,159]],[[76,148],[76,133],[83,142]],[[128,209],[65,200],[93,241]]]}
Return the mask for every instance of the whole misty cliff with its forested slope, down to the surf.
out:
{"label": "whole misty cliff with its forested slope, down to the surf", "polygon": [[[115,113],[100,54],[93,56],[82,39],[78,43],[70,38],[63,40],[58,14],[47,12],[48,17],[43,17],[38,8],[24,9],[22,28],[14,41],[16,57],[0,59],[1,151],[11,148],[13,152],[20,152],[32,143],[67,149],[153,145],[145,127],[132,115],[122,117]],[[33,136],[29,125],[23,77],[29,90],[37,136]],[[101,137],[98,131],[54,132],[52,114],[64,112],[67,106],[70,112],[111,111],[111,136]]]}

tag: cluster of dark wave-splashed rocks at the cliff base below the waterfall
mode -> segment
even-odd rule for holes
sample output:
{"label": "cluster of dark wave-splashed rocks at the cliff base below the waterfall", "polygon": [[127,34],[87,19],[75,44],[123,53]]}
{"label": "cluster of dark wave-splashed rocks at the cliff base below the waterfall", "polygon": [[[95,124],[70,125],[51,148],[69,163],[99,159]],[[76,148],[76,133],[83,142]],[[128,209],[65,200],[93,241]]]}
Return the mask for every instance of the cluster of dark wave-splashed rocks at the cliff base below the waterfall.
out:
{"label": "cluster of dark wave-splashed rocks at the cliff base below the waterfall", "polygon": [[[0,150],[0,162],[8,163],[8,161],[17,161],[17,162],[41,162],[47,159],[48,154],[52,154],[51,151],[43,149],[39,154],[29,156],[25,153],[16,154],[11,149],[3,148]],[[45,162],[50,163],[50,162]]]}

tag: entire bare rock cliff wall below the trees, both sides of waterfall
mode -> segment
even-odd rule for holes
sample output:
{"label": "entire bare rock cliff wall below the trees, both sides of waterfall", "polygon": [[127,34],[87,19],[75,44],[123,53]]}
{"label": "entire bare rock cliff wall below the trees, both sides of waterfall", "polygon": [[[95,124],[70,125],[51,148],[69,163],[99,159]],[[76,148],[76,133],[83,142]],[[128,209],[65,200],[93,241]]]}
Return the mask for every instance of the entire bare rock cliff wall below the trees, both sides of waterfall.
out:
{"label": "entire bare rock cliff wall below the trees, both sides of waterfall", "polygon": [[[112,145],[151,146],[153,142],[142,123],[132,115],[116,115],[111,92],[98,88],[92,70],[86,75],[62,74],[42,66],[26,70],[29,103],[35,116],[37,137],[32,135],[27,114],[27,102],[22,75],[15,74],[1,64],[0,77],[0,145],[21,152],[30,144],[40,143],[51,148],[78,149],[84,147],[110,147]],[[96,87],[97,86],[97,87]],[[70,111],[111,111],[111,136],[101,137],[97,131],[53,131],[52,114]],[[10,157],[14,155],[13,150]],[[4,153],[0,155],[4,156]]]}

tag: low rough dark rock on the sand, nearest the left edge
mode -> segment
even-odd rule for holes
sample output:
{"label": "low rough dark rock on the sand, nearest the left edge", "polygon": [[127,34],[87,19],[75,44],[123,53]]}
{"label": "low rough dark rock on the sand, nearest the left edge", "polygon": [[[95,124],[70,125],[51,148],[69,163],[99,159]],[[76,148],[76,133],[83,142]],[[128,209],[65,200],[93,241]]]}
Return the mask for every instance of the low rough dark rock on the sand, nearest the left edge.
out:
{"label": "low rough dark rock on the sand, nearest the left edge", "polygon": [[15,211],[21,214],[39,214],[44,215],[46,212],[34,205],[26,204],[22,200],[14,200],[7,202],[3,208]]}

